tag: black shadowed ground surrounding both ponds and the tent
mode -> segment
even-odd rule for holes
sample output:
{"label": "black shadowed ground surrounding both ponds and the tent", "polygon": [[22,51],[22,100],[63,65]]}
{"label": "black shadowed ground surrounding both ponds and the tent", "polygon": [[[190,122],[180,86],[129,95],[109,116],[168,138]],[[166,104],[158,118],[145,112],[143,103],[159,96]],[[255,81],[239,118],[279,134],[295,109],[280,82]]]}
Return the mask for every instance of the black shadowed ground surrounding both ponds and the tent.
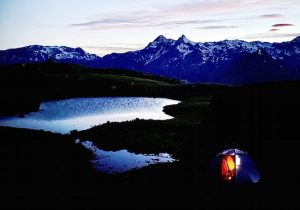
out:
{"label": "black shadowed ground surrounding both ponds and the tent", "polygon": [[[58,68],[51,65],[55,68],[50,68],[47,81],[49,77],[52,80],[55,75],[52,71]],[[298,81],[224,87],[181,85],[147,78],[150,83],[147,88],[144,82],[133,88],[133,80],[138,84],[138,80],[145,78],[127,75],[122,91],[117,91],[111,87],[118,87],[119,78],[124,75],[117,77],[111,72],[106,72],[105,79],[104,75],[58,72],[64,82],[49,81],[47,86],[43,86],[47,83],[37,83],[45,77],[44,73],[36,81],[28,75],[27,80],[21,81],[24,77],[16,80],[16,75],[6,72],[5,77],[1,77],[1,98],[5,99],[1,101],[2,115],[32,111],[40,100],[86,95],[121,96],[134,92],[132,95],[181,99],[182,103],[165,107],[165,112],[175,117],[172,120],[107,123],[71,135],[0,127],[3,209],[300,207]],[[79,75],[81,77],[75,79]],[[100,77],[102,82],[95,77]],[[85,83],[87,78],[95,80],[95,84]],[[54,87],[59,91],[53,91]],[[24,97],[24,103],[15,104],[22,94],[30,99]],[[27,104],[27,110],[18,109],[23,104]],[[180,161],[106,175],[91,168],[87,161],[91,154],[74,144],[76,138],[89,138],[101,148],[110,150],[169,152]],[[209,176],[209,166],[215,155],[231,147],[250,154],[261,172],[258,184],[229,186]]]}

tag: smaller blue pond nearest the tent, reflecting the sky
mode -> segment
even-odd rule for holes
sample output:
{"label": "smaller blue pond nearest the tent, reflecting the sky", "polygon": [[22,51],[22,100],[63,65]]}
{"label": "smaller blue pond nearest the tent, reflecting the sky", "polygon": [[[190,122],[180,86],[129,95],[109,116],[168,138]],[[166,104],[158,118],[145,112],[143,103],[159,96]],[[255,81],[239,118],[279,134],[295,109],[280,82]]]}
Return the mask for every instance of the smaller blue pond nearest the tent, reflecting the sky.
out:
{"label": "smaller blue pond nearest the tent, reflecting the sky", "polygon": [[101,150],[90,141],[76,140],[76,143],[81,143],[86,149],[93,152],[94,159],[91,160],[91,163],[96,170],[108,174],[122,173],[151,164],[170,163],[176,161],[168,153],[160,153],[158,155],[134,154],[127,150],[113,152]]}

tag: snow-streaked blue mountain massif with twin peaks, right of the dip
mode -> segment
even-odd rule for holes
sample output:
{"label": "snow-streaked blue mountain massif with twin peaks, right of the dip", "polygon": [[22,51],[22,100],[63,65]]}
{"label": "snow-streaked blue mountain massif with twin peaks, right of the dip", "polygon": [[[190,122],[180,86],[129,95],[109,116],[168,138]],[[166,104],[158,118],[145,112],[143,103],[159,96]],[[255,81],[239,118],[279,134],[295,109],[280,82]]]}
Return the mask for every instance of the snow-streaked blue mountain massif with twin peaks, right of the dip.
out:
{"label": "snow-streaked blue mountain massif with twin peaks, right of the dip", "polygon": [[[264,51],[264,55],[261,52]],[[253,55],[252,61],[247,57]],[[252,65],[261,61],[265,65]],[[243,65],[240,65],[243,63]],[[272,63],[272,71],[269,65]],[[195,43],[184,35],[178,40],[159,36],[146,48],[104,56],[101,65],[148,72],[193,83],[245,84],[261,81],[300,78],[300,42],[299,37],[291,42],[245,42],[224,40],[220,42]],[[243,75],[245,67],[253,72],[251,78]],[[255,68],[254,68],[255,67]],[[232,69],[235,68],[235,69]],[[238,68],[238,69],[237,69]],[[238,71],[241,78],[232,78]],[[237,73],[238,73],[237,72]],[[255,76],[255,72],[257,77]]]}

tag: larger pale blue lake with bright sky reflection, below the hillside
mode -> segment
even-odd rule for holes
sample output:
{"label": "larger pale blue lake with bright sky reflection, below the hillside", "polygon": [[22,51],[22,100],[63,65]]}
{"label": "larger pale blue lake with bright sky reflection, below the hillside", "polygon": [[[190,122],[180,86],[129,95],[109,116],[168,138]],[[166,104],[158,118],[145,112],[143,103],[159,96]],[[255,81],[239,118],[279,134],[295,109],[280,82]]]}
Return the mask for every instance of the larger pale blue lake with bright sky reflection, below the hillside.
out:
{"label": "larger pale blue lake with bright sky reflection, below the hillside", "polygon": [[68,133],[107,121],[171,119],[162,110],[164,106],[176,103],[178,101],[144,97],[73,98],[43,102],[38,112],[31,112],[25,118],[0,118],[0,125]]}

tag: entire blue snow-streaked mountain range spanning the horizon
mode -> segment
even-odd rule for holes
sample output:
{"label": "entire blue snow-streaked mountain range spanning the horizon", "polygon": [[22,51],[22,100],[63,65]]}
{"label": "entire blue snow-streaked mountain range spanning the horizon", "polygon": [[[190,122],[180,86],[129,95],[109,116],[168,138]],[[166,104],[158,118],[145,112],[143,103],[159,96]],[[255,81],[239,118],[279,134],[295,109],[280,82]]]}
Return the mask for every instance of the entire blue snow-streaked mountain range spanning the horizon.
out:
{"label": "entire blue snow-streaked mountain range spanning the horizon", "polygon": [[282,42],[192,42],[158,36],[144,49],[99,57],[81,48],[40,46],[0,51],[0,65],[46,62],[118,68],[186,83],[250,84],[300,79],[300,37]]}

